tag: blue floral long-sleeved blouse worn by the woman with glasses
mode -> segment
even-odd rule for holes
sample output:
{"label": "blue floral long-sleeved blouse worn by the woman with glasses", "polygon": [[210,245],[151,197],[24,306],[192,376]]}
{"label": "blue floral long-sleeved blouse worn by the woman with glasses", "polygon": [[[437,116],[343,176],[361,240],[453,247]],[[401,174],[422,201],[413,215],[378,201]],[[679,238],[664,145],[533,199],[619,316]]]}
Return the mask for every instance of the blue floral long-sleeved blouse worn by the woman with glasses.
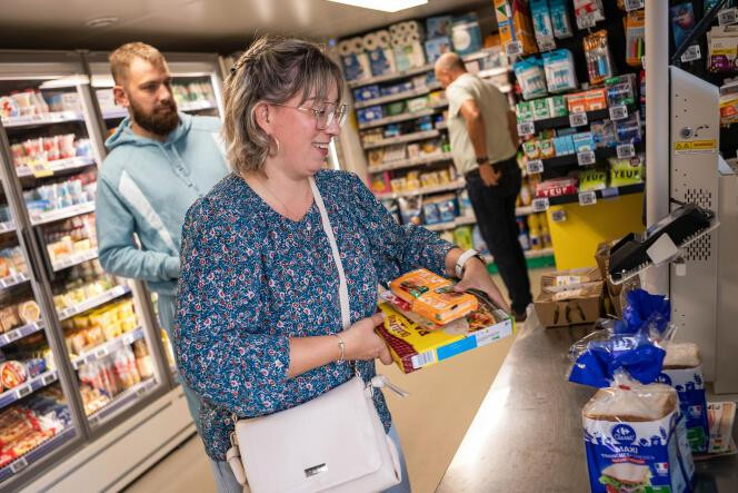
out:
{"label": "blue floral long-sleeved blouse worn by the woman with glasses", "polygon": [[[375,313],[378,283],[418,267],[443,274],[449,243],[398,225],[353,174],[322,170],[315,179],[346,270],[351,323]],[[202,402],[208,455],[225,460],[232,413],[282,411],[350,378],[347,363],[287,377],[289,337],[338,333],[340,319],[338,273],[315,204],[292,221],[230,175],[190,208],[173,342],[180,372]],[[365,379],[375,375],[373,362],[358,367]],[[389,430],[380,392],[375,404]]]}

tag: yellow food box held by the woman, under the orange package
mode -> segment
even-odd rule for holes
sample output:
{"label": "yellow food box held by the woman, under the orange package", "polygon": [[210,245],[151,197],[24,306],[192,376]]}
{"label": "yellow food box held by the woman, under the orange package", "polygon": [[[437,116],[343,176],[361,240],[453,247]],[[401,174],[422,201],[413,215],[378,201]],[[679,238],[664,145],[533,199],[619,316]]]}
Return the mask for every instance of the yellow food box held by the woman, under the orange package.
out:
{"label": "yellow food box held by the woman, under the orange package", "polygon": [[512,319],[479,297],[478,308],[466,316],[463,328],[428,329],[411,322],[389,303],[381,303],[385,323],[377,333],[390,348],[392,359],[403,373],[486,346],[512,334]]}

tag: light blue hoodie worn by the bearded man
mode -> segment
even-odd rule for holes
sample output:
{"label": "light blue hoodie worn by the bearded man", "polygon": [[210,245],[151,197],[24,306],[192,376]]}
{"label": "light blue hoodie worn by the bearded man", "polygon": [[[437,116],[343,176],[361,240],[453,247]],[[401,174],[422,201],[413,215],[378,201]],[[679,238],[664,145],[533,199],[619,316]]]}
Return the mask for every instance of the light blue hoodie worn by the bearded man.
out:
{"label": "light blue hoodie worn by the bearded man", "polygon": [[177,292],[187,209],[229,171],[220,120],[181,112],[179,119],[159,142],[134,134],[126,118],[106,142],[96,203],[102,268],[166,296]]}

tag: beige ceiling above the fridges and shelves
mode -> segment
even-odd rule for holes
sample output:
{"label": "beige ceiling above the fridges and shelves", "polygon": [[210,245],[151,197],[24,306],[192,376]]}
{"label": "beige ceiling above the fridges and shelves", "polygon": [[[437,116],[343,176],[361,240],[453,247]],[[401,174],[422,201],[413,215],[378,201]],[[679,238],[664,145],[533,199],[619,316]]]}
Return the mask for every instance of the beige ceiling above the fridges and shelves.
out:
{"label": "beige ceiling above the fridges and shelves", "polygon": [[[222,53],[263,33],[327,40],[441,12],[478,10],[487,22],[492,16],[491,0],[429,0],[396,13],[327,0],[2,0],[0,8],[0,49],[109,50],[140,40],[168,51]],[[119,20],[86,24],[102,17]]]}

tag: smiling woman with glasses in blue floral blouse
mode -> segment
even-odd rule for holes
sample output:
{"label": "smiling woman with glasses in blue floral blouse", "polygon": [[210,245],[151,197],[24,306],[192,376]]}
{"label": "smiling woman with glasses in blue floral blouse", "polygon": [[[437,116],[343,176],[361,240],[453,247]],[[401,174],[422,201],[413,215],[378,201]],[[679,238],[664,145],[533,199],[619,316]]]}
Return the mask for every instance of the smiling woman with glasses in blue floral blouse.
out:
{"label": "smiling woman with glasses in blue floral blouse", "polygon": [[[350,379],[351,361],[368,382],[375,359],[391,363],[375,334],[382,322],[377,284],[419,267],[453,276],[465,257],[433,233],[398,225],[356,175],[323,169],[346,120],[342,92],[338,66],[300,40],[256,41],[226,80],[223,138],[233,172],[187,215],[174,329],[182,375],[202,402],[220,491],[240,490],[225,462],[232,414],[261,416],[310,401]],[[348,328],[320,197],[348,287]],[[467,257],[460,284],[505,306],[485,264]],[[399,448],[381,392],[373,402]],[[402,475],[392,491],[409,491]]]}

